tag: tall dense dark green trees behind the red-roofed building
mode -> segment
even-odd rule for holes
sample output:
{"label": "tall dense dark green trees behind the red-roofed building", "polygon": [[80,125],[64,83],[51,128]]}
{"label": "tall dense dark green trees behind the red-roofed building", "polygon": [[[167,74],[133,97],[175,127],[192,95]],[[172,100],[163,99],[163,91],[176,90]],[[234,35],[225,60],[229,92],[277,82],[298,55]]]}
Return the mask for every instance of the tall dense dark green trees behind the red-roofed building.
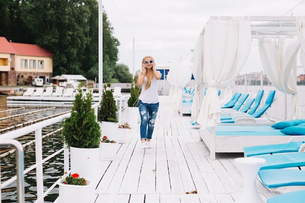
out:
{"label": "tall dense dark green trees behind the red-roofed building", "polygon": [[[97,0],[0,0],[0,19],[0,36],[37,44],[53,54],[54,75],[98,78]],[[103,10],[105,82],[117,80],[113,74],[120,43],[113,32]]]}

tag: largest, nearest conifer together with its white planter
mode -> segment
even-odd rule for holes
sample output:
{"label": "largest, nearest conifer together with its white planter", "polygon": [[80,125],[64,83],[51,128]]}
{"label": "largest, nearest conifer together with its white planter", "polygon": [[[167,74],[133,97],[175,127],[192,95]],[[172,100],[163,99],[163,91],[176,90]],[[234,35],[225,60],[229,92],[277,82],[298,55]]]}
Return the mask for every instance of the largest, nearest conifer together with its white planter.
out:
{"label": "largest, nearest conifer together with its white planter", "polygon": [[101,131],[92,109],[92,90],[83,95],[83,83],[76,90],[71,115],[62,129],[64,143],[70,148],[71,173],[95,180]]}

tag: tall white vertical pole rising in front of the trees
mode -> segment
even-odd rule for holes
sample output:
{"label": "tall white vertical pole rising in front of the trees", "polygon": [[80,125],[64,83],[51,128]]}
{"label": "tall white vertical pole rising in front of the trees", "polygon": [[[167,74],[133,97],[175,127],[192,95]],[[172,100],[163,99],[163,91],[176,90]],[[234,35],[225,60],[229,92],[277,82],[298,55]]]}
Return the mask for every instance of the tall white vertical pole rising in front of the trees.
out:
{"label": "tall white vertical pole rising in front of the trees", "polygon": [[98,98],[103,93],[103,10],[102,0],[98,0]]}

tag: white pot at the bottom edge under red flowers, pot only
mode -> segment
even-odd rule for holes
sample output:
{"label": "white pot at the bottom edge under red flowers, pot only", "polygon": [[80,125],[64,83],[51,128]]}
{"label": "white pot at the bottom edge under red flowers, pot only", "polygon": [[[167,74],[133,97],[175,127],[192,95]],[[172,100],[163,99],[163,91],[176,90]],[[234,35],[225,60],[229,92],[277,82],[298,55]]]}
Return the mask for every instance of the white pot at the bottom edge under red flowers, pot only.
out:
{"label": "white pot at the bottom edge under red flowers, pot only", "polygon": [[[82,177],[81,177],[82,178]],[[87,179],[86,179],[87,180]],[[87,185],[66,185],[63,179],[59,185],[59,203],[92,203],[94,199],[93,182]]]}

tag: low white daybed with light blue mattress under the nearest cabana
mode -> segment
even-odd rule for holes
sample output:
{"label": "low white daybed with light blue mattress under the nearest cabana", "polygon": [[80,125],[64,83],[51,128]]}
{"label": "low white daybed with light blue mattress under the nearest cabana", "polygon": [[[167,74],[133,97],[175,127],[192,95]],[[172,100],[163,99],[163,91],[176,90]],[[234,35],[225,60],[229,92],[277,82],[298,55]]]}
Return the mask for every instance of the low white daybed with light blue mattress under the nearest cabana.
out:
{"label": "low white daybed with light blue mattress under the nearest cabana", "polygon": [[200,130],[200,139],[210,150],[211,159],[216,152],[244,152],[244,147],[287,143],[290,135],[272,124],[221,124]]}

